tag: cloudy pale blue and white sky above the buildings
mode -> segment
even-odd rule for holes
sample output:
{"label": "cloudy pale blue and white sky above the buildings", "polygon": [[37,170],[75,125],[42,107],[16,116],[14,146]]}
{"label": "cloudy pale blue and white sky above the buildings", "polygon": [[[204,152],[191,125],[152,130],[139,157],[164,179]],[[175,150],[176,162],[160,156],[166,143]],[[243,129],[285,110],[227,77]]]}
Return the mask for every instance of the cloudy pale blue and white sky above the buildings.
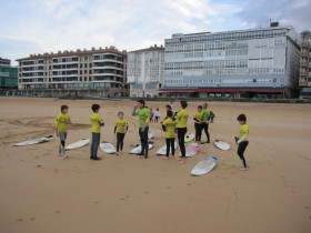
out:
{"label": "cloudy pale blue and white sky above the buildings", "polygon": [[173,33],[268,27],[311,31],[311,0],[0,0],[0,57],[164,44]]}

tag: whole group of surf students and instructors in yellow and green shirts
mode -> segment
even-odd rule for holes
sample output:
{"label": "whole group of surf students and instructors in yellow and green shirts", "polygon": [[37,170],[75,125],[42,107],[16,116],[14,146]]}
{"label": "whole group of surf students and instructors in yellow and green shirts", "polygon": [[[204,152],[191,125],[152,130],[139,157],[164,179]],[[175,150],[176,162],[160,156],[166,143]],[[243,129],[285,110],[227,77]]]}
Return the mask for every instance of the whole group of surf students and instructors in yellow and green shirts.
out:
{"label": "whole group of surf students and instructors in yellow and green shirts", "polygon": [[[185,146],[184,146],[184,135],[188,131],[187,123],[189,119],[189,114],[187,111],[188,103],[185,100],[180,101],[181,110],[175,112],[173,102],[171,104],[165,105],[167,109],[167,116],[164,121],[161,121],[162,129],[165,132],[165,143],[167,143],[167,153],[165,156],[162,158],[163,160],[169,159],[169,153],[171,152],[174,155],[174,139],[175,133],[178,136],[178,144],[181,151],[181,158],[178,163],[185,162]],[[99,115],[100,105],[92,104],[91,107],[93,113],[91,114],[91,123],[92,123],[92,143],[91,143],[91,160],[101,160],[97,155],[98,148],[100,144],[100,132],[101,126],[104,125],[102,118]],[[57,121],[54,123],[56,134],[60,136],[60,145],[59,145],[59,154],[62,155],[64,159],[68,158],[66,154],[66,138],[68,135],[68,124],[72,123],[70,115],[68,114],[69,107],[61,105],[61,113],[57,116]],[[132,111],[132,115],[139,115],[139,138],[141,141],[141,152],[138,155],[144,155],[148,159],[148,151],[149,151],[149,140],[148,140],[148,132],[149,132],[149,123],[152,121],[152,116],[156,114],[154,122],[158,122],[160,119],[160,111],[153,113],[152,109],[148,109],[143,100],[139,100],[134,105]],[[240,114],[238,116],[238,122],[241,124],[241,130],[239,136],[235,138],[235,143],[238,145],[238,155],[242,161],[242,171],[248,169],[245,159],[244,159],[244,151],[249,144],[249,126],[247,124],[247,116],[244,114]],[[202,143],[210,143],[210,134],[209,134],[209,123],[211,122],[211,112],[208,109],[208,104],[204,103],[203,105],[199,105],[197,112],[193,115],[194,121],[194,129],[195,129],[195,142],[201,142],[201,134],[204,130],[207,135],[207,142]],[[124,119],[124,113],[118,113],[118,120],[116,121],[114,126],[114,136],[117,136],[117,154],[122,153],[123,150],[123,140],[126,133],[128,132],[129,125],[128,121]],[[119,152],[120,151],[120,152]]]}

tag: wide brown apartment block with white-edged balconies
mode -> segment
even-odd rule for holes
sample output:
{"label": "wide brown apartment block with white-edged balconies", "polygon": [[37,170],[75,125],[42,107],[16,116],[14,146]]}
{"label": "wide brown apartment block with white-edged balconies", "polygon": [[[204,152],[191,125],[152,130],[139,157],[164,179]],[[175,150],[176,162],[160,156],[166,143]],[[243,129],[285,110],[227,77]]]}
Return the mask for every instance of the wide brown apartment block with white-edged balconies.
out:
{"label": "wide brown apartment block with white-edged balconies", "polygon": [[127,92],[127,51],[106,49],[59,51],[18,59],[19,90],[106,90]]}

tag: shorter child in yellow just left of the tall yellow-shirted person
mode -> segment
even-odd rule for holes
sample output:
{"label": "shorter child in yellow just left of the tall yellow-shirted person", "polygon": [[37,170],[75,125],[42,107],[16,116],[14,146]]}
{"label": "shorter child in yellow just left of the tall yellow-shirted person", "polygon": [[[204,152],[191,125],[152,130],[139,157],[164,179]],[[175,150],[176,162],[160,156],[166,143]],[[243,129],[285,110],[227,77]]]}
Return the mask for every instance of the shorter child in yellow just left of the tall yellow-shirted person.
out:
{"label": "shorter child in yellow just left of the tall yellow-shirted person", "polygon": [[177,121],[172,120],[173,112],[169,110],[167,112],[167,120],[162,123],[162,129],[165,131],[165,142],[167,142],[167,154],[163,160],[169,159],[170,148],[172,155],[174,155],[174,138],[175,138],[175,128],[177,128]]}

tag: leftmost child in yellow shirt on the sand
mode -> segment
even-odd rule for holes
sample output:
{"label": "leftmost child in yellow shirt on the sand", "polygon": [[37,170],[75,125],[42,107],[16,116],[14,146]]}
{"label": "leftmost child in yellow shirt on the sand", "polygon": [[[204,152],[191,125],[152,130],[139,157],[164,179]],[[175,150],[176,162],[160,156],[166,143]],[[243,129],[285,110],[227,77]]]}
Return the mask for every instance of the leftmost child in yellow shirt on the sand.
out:
{"label": "leftmost child in yellow shirt on the sand", "polygon": [[57,116],[57,121],[54,123],[56,134],[60,138],[59,155],[62,155],[63,159],[68,158],[68,155],[66,154],[64,144],[68,134],[68,124],[71,124],[71,119],[68,114],[68,105],[61,105],[61,113]]}

